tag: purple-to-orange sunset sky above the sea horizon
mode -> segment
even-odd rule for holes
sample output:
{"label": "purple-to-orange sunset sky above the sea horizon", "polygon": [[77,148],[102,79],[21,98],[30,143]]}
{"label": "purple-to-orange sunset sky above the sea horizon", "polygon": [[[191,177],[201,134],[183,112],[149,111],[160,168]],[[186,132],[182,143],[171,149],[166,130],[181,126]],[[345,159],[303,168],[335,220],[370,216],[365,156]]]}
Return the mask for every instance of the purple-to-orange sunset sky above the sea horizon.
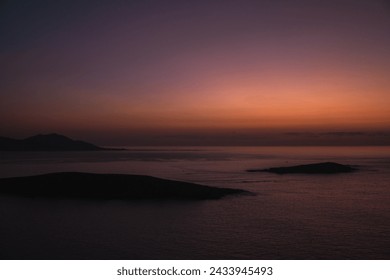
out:
{"label": "purple-to-orange sunset sky above the sea horizon", "polygon": [[390,145],[388,1],[0,3],[1,136]]}

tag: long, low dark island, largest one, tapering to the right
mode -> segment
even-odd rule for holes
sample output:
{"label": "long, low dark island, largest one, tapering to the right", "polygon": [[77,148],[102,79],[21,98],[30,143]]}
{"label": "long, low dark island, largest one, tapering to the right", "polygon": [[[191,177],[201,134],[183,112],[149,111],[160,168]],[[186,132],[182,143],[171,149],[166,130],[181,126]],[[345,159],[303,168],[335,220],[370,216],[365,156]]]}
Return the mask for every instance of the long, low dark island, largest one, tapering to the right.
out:
{"label": "long, low dark island, largest one, tapering to the right", "polygon": [[23,197],[99,200],[205,200],[249,194],[151,176],[63,172],[1,178],[0,193]]}

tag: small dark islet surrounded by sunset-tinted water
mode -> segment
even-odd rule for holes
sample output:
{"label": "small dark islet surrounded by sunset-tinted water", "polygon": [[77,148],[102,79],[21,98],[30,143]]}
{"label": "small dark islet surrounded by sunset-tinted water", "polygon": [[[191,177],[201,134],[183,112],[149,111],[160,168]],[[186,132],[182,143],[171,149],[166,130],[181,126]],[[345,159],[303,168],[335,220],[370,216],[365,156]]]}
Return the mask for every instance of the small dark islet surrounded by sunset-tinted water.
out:
{"label": "small dark islet surrounded by sunset-tinted water", "polygon": [[357,169],[335,162],[320,162],[287,167],[272,167],[267,169],[249,169],[248,172],[271,172],[276,174],[304,173],[304,174],[335,174],[348,173]]}

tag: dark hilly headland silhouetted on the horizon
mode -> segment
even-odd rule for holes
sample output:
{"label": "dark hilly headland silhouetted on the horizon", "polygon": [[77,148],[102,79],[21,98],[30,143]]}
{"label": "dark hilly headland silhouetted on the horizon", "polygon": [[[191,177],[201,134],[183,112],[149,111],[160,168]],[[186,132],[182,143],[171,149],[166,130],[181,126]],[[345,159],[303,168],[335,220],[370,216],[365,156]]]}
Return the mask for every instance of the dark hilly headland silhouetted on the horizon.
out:
{"label": "dark hilly headland silhouetted on the horizon", "polygon": [[73,140],[69,137],[51,133],[38,134],[25,139],[0,137],[0,151],[107,151],[109,149],[94,144]]}

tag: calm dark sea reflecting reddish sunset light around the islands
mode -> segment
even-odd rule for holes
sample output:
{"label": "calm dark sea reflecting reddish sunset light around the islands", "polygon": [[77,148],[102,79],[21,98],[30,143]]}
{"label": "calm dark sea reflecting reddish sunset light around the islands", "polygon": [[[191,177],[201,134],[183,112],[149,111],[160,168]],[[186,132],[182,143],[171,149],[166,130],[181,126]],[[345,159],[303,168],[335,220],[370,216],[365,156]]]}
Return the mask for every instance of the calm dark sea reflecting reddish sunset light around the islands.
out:
{"label": "calm dark sea reflecting reddish sunset light around the islands", "polygon": [[[358,165],[360,171],[245,172],[321,161]],[[257,195],[201,202],[0,197],[1,258],[390,258],[390,147],[0,153],[0,177],[56,171],[146,174]]]}

